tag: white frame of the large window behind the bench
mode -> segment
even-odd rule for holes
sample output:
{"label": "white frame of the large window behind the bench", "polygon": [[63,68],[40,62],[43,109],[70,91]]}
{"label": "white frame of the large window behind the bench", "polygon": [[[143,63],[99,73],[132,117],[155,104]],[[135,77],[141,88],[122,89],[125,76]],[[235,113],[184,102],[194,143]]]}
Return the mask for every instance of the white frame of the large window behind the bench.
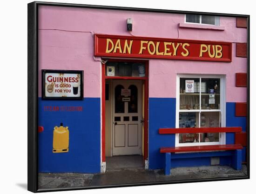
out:
{"label": "white frame of the large window behind the bench", "polygon": [[[202,78],[217,78],[220,79],[220,106],[221,109],[201,109],[201,98],[199,110],[180,110],[180,78],[199,78],[200,79],[200,96],[201,96],[201,79]],[[182,112],[221,112],[221,127],[226,127],[226,76],[225,75],[213,75],[213,74],[177,74],[176,77],[176,122],[175,127],[179,128],[179,113]],[[199,123],[200,123],[199,114]],[[179,143],[179,134],[175,134],[175,147],[185,146],[206,146],[206,145],[225,145],[226,133],[219,133],[218,142],[191,142],[191,143]]]}

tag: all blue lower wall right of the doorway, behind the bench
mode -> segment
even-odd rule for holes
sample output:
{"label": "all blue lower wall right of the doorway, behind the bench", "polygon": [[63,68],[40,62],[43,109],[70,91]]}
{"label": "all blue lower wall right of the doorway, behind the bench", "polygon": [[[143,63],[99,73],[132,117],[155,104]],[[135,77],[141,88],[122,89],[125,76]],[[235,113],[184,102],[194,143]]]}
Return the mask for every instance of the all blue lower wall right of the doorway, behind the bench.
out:
{"label": "all blue lower wall right of the doorway, behind the bench", "polygon": [[[175,127],[175,98],[149,98],[149,125],[148,125],[148,162],[149,169],[164,167],[164,154],[160,147],[175,147],[175,134],[159,134],[159,128]],[[246,128],[246,117],[235,116],[235,103],[226,103],[226,126]],[[226,134],[226,143],[235,143],[235,134]],[[245,148],[242,150],[242,160],[245,161]],[[220,164],[231,164],[231,156],[221,156]],[[193,167],[210,165],[210,157],[182,158],[172,161],[172,167]]]}

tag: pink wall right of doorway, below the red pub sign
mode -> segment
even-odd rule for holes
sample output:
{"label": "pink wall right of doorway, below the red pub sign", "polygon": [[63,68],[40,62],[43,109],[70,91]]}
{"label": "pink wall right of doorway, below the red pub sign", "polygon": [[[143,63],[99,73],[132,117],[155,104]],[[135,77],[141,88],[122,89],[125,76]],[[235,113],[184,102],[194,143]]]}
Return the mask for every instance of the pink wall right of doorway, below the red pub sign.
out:
{"label": "pink wall right of doorway, below the red pub sign", "polygon": [[247,88],[236,87],[236,72],[246,73],[246,64],[247,58],[236,57],[236,44],[232,44],[231,63],[188,60],[150,60],[149,97],[176,98],[177,74],[224,74],[226,75],[227,88],[226,101],[246,102]]}

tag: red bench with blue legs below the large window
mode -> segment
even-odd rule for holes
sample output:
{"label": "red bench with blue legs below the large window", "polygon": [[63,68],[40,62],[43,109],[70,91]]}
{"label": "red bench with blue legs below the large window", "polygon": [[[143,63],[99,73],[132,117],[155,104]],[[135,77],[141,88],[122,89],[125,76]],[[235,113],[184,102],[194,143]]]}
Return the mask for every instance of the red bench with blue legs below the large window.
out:
{"label": "red bench with blue legs below the large window", "polygon": [[[188,134],[188,133],[239,133],[242,132],[242,127],[210,127],[210,128],[160,128],[159,134]],[[188,157],[211,157],[211,156],[232,156],[231,166],[236,170],[242,169],[242,149],[241,144],[228,145],[208,145],[208,146],[186,146],[186,147],[161,147],[160,153],[165,154],[166,175],[171,173],[171,160],[183,158],[186,152]],[[209,152],[211,151],[211,152]],[[228,152],[220,152],[228,151]],[[188,153],[190,152],[190,153]],[[203,154],[198,155],[198,152]],[[175,154],[179,153],[179,154]]]}

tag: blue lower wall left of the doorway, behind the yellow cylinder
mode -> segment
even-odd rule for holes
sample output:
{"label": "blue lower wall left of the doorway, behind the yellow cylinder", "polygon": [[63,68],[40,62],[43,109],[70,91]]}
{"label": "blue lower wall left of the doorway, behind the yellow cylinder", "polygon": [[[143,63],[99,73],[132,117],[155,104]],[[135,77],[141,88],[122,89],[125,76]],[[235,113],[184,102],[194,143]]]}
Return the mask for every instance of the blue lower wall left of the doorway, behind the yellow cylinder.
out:
{"label": "blue lower wall left of the doorway, behind the yellow cylinder", "polygon": [[[45,111],[47,106],[82,107],[82,111]],[[39,172],[99,173],[101,171],[101,100],[42,100],[38,103]],[[55,126],[69,129],[69,152],[53,153]]]}

